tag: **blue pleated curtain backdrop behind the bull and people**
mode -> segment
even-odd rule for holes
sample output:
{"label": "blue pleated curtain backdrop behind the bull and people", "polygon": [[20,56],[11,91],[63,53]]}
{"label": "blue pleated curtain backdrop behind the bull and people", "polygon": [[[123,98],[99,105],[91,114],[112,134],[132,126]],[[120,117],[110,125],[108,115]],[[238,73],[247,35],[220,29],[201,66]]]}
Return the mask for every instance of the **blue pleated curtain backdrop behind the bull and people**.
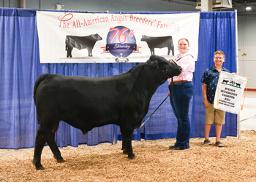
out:
{"label": "blue pleated curtain backdrop behind the bull and people", "polygon": [[[212,60],[214,52],[223,50],[226,55],[224,66],[230,71],[236,72],[235,15],[235,12],[200,13],[199,55],[193,79],[195,95],[189,110],[192,138],[204,137],[204,107],[200,77],[206,68],[214,66]],[[129,71],[130,68],[137,65],[137,63],[41,64],[39,62],[36,9],[0,8],[0,25],[0,149],[34,147],[39,125],[33,100],[33,88],[34,82],[40,74],[112,76]],[[166,82],[158,88],[151,99],[145,119],[165,99],[167,91]],[[176,129],[176,118],[170,107],[170,102],[167,100],[151,116],[145,127],[138,132],[135,130],[133,139],[176,138]],[[210,134],[211,136],[215,135],[214,128]],[[236,135],[236,115],[226,114],[222,138]],[[56,132],[56,143],[61,147],[78,146],[82,143],[94,146],[104,142],[113,143],[113,136],[116,140],[121,140],[119,127],[114,124],[94,128],[84,136],[80,130],[61,122],[59,130]]]}

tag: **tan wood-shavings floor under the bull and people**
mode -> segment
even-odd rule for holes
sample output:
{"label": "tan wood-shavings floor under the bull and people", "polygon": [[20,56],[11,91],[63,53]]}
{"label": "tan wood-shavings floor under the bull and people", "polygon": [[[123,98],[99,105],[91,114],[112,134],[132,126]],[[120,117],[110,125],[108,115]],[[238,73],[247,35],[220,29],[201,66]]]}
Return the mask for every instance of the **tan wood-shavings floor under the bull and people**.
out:
{"label": "tan wood-shavings floor under the bull and people", "polygon": [[121,141],[68,146],[60,149],[64,163],[57,163],[46,146],[45,170],[32,165],[34,149],[0,150],[0,181],[256,181],[254,130],[241,131],[241,140],[222,139],[223,148],[191,138],[190,149],[170,150],[175,141],[132,141],[135,159],[122,154]]}

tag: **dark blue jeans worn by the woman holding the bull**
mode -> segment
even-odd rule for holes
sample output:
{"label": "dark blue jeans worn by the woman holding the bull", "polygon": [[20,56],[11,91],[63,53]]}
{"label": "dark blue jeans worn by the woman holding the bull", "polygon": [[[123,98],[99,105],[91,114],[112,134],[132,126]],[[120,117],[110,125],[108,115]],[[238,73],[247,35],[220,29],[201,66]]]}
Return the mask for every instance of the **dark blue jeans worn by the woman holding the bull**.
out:
{"label": "dark blue jeans worn by the woman holding the bull", "polygon": [[170,105],[173,112],[178,119],[177,137],[175,146],[180,149],[189,149],[189,135],[190,135],[190,122],[189,122],[189,103],[194,95],[194,87],[192,82],[185,82],[180,84],[173,84],[173,102],[170,90]]}

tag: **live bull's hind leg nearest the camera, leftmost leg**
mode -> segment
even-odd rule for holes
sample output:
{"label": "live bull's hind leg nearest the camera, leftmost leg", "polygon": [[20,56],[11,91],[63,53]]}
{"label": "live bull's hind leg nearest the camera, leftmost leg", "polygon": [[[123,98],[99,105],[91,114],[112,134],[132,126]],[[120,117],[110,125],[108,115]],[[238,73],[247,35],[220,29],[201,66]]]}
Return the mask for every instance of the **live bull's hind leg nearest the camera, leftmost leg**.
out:
{"label": "live bull's hind leg nearest the camera, leftmost leg", "polygon": [[36,166],[37,170],[45,170],[45,167],[42,167],[41,165],[41,154],[42,154],[42,149],[44,148],[50,133],[51,133],[51,130],[48,129],[47,127],[43,127],[42,125],[40,125],[37,130],[36,143],[34,147],[34,159],[33,159],[33,165]]}

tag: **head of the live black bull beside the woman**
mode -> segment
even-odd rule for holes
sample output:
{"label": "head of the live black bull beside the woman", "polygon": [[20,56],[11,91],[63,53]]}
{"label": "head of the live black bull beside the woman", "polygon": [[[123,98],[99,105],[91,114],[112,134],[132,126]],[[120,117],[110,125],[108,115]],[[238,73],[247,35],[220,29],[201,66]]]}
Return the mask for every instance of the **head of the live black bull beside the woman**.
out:
{"label": "head of the live black bull beside the woman", "polygon": [[151,55],[149,60],[147,60],[147,63],[151,68],[163,71],[169,78],[178,76],[182,72],[181,66],[178,66],[175,62],[170,62],[158,55]]}

